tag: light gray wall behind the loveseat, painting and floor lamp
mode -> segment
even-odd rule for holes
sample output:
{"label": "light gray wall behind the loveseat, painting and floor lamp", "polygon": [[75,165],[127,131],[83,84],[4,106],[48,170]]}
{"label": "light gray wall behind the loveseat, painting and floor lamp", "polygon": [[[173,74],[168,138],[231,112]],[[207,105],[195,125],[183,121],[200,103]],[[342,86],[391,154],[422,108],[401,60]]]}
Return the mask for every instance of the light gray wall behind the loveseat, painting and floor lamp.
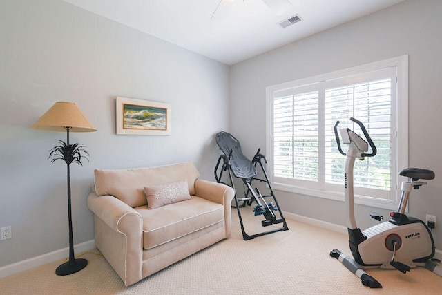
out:
{"label": "light gray wall behind the loveseat, painting and floor lamp", "polygon": [[[0,267],[68,247],[65,133],[30,126],[57,101],[98,129],[71,133],[90,162],[71,166],[74,243],[93,240],[93,169],[191,160],[213,180],[215,133],[227,129],[229,67],[59,0],[0,0]],[[115,97],[172,105],[172,135],[116,135]]]}

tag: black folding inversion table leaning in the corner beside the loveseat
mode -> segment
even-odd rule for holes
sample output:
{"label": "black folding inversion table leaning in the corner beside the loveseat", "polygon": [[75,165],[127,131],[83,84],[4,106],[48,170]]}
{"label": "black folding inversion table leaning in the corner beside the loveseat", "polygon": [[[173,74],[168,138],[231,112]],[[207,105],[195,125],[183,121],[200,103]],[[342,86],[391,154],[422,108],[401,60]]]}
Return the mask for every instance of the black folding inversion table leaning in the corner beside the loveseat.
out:
{"label": "black folding inversion table leaning in the corner beside the loveseat", "polygon": [[[224,155],[220,155],[220,157],[218,158],[218,162],[216,163],[214,171],[215,179],[217,182],[227,184],[230,187],[233,187],[233,189],[235,190],[235,202],[236,202],[236,208],[238,209],[238,216],[240,218],[242,238],[244,238],[244,240],[251,240],[257,236],[264,236],[266,234],[271,234],[276,231],[287,231],[289,227],[287,227],[285,218],[282,216],[282,211],[280,210],[278,201],[276,200],[275,194],[273,193],[273,189],[271,187],[269,178],[261,162],[262,160],[264,160],[265,163],[267,163],[267,160],[264,155],[260,154],[260,149],[258,149],[258,151],[256,152],[255,156],[253,157],[253,160],[250,161],[242,153],[240,142],[230,133],[224,131],[218,133],[216,135],[216,143],[218,144],[220,150],[222,151],[222,153],[224,153]],[[221,160],[222,160],[222,166],[220,172],[218,173]],[[262,170],[262,173],[265,176],[265,180],[256,177],[257,164],[260,165],[260,169]],[[224,171],[229,171],[230,184],[221,181],[222,173]],[[245,186],[244,198],[238,198],[238,193],[236,191],[235,184],[233,182],[233,176],[242,179]],[[255,188],[255,190],[253,190],[251,187],[251,183],[253,182],[253,180],[258,180],[260,182],[267,183],[270,193],[266,194],[265,196],[262,196],[262,194],[260,193],[257,187]],[[273,202],[267,203],[265,201],[266,197],[273,197],[274,203]],[[269,225],[278,224],[278,223],[282,223],[282,227],[271,229],[269,231],[263,231],[258,234],[252,234],[252,235],[247,234],[244,229],[244,223],[242,221],[240,207],[244,207],[246,204],[250,206],[253,203],[253,201],[256,202],[256,206],[253,209],[253,211],[255,211],[255,216],[263,215],[265,217],[265,220],[261,221],[261,225],[263,227],[267,227]],[[240,205],[240,202],[243,203]],[[279,211],[280,217],[277,217],[273,211]]]}

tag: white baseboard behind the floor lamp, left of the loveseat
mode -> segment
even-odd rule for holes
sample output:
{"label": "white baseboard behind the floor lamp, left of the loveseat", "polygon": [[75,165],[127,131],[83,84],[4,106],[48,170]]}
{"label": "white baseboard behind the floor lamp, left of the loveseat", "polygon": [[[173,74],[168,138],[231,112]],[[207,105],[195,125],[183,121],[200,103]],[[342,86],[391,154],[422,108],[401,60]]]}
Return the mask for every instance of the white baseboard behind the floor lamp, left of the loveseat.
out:
{"label": "white baseboard behind the floor lamp, left of the loveseat", "polygon": [[[95,240],[88,240],[87,242],[82,242],[81,244],[74,245],[75,253],[81,253],[94,248]],[[18,274],[19,272],[23,272],[27,269],[38,267],[40,265],[45,265],[46,263],[52,263],[54,261],[67,257],[69,257],[69,247],[19,261],[18,263],[12,263],[10,265],[0,267],[0,278],[6,278],[6,276],[12,276],[12,274]]]}

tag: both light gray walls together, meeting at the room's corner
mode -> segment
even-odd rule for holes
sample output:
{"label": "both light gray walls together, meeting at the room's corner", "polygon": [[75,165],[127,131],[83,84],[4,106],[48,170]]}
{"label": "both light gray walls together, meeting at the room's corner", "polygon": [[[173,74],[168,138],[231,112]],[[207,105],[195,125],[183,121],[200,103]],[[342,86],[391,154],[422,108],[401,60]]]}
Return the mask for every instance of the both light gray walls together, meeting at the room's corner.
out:
{"label": "both light gray walls together, meeting at the room's corner", "polygon": [[[442,59],[439,0],[405,1],[277,50],[228,66],[195,55],[57,0],[0,0],[0,267],[67,247],[66,165],[48,150],[64,133],[32,125],[60,100],[75,102],[98,129],[73,133],[90,162],[72,166],[75,244],[93,239],[86,197],[93,169],[124,169],[192,160],[213,180],[219,151],[213,135],[228,130],[252,156],[265,153],[265,87],[294,79],[410,55],[410,166],[436,180],[412,196],[410,215],[439,216],[441,238]],[[229,72],[230,70],[230,72]],[[115,134],[115,97],[167,102],[170,136]],[[229,99],[227,99],[229,97]],[[345,225],[344,204],[277,191],[282,209]],[[414,198],[413,198],[414,197]],[[357,206],[358,223],[372,225]]]}

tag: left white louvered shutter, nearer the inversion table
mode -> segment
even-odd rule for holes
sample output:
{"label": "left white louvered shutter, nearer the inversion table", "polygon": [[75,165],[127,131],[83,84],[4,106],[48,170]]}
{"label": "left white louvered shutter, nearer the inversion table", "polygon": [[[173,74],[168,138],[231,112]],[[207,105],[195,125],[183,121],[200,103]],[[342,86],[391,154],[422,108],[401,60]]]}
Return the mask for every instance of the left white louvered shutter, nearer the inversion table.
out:
{"label": "left white louvered shutter, nearer the inversion table", "polygon": [[318,84],[276,93],[273,99],[275,178],[318,182],[318,106]]}

